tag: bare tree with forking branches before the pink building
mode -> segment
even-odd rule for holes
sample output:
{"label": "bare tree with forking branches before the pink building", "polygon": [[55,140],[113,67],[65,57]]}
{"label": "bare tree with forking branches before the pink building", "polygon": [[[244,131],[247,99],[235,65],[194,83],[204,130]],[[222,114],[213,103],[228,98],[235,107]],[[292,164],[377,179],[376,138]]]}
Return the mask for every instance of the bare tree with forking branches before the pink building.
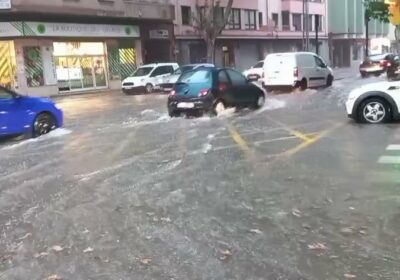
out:
{"label": "bare tree with forking branches before the pink building", "polygon": [[215,41],[228,23],[233,0],[228,0],[225,8],[221,7],[220,0],[204,0],[203,4],[196,0],[196,10],[192,15],[193,27],[206,44],[207,62],[214,63]]}

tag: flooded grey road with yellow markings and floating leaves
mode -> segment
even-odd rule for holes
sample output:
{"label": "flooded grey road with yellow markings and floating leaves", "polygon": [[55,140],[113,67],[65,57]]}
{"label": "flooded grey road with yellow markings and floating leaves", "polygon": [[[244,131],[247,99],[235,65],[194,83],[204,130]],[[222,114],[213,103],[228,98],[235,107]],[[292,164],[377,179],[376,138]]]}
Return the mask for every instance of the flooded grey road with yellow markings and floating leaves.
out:
{"label": "flooded grey road with yellow markings and floating leaves", "polygon": [[212,119],[57,99],[64,129],[0,143],[0,279],[400,279],[400,129],[347,119],[365,82]]}

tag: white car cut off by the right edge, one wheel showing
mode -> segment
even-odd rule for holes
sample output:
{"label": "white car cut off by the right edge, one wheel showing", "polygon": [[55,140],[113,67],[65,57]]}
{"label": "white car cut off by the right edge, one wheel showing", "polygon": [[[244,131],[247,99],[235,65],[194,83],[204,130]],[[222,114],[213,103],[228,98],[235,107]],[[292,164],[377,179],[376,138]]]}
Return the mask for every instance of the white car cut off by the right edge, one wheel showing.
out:
{"label": "white car cut off by the right edge, one wheel showing", "polygon": [[346,111],[350,118],[362,123],[383,123],[399,119],[400,81],[364,85],[350,92]]}

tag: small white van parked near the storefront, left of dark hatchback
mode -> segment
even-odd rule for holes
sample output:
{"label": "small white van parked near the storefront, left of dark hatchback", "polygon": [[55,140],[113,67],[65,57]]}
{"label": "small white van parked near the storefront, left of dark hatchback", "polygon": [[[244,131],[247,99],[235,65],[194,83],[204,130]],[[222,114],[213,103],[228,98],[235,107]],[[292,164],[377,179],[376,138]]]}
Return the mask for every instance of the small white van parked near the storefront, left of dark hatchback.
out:
{"label": "small white van parked near the storefront, left of dark hatchback", "polygon": [[140,66],[132,76],[122,81],[124,93],[142,92],[152,93],[159,88],[162,79],[178,69],[177,63],[153,63]]}

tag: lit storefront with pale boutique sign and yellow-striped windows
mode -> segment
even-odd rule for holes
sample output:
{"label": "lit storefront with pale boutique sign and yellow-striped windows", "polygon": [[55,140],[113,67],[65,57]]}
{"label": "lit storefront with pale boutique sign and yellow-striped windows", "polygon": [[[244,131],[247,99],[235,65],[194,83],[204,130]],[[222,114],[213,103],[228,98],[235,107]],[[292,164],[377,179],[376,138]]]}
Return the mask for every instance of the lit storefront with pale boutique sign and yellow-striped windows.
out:
{"label": "lit storefront with pale boutique sign and yellow-striped windows", "polygon": [[142,62],[139,28],[0,23],[0,83],[36,96],[119,89]]}

